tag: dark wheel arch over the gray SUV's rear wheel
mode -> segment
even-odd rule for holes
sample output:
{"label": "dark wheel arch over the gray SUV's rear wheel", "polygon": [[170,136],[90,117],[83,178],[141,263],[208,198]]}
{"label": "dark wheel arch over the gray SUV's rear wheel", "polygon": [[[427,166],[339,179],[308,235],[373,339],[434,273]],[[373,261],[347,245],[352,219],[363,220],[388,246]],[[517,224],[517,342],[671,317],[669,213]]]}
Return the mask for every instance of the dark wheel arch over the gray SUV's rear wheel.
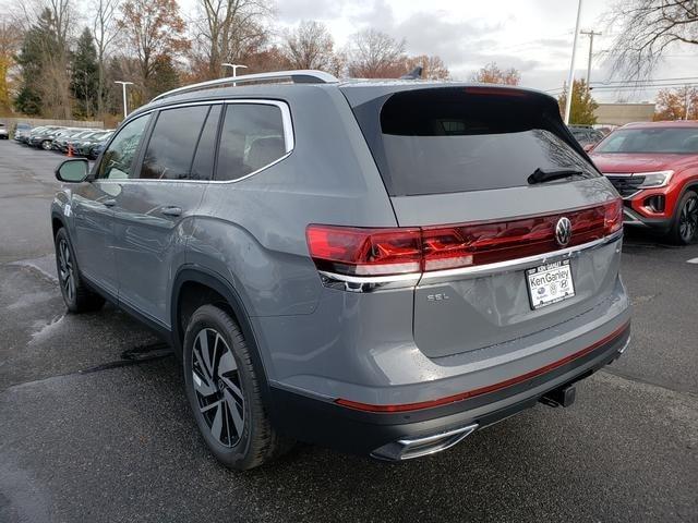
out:
{"label": "dark wheel arch over the gray SUV's rear wheel", "polygon": [[[209,290],[213,294],[209,296],[220,296],[225,301],[225,305],[228,312],[233,316],[233,319],[240,326],[242,335],[244,336],[245,343],[250,350],[252,356],[252,364],[254,369],[260,376],[260,385],[262,389],[262,397],[267,405],[270,402],[269,380],[262,353],[260,351],[260,344],[257,337],[254,333],[250,316],[246,313],[244,304],[234,290],[232,284],[222,276],[214,272],[213,270],[203,267],[185,266],[178,270],[172,284],[172,296],[170,303],[170,319],[171,319],[171,339],[176,354],[178,357],[182,357],[184,330],[185,327],[181,321],[182,297],[186,294],[186,289],[195,285],[197,290],[202,288]],[[212,303],[208,301],[207,303]],[[213,303],[216,303],[214,301]],[[204,303],[202,302],[201,305]],[[193,311],[191,311],[193,313]]]}

